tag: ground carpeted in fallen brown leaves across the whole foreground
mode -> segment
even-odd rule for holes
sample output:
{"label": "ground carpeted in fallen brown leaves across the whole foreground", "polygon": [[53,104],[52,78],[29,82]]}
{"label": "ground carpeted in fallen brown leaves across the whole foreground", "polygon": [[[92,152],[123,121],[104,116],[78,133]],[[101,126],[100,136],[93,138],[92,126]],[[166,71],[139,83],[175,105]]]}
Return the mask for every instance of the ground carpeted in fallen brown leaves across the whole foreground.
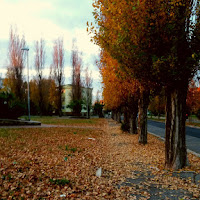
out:
{"label": "ground carpeted in fallen brown leaves across the whole foreground", "polygon": [[[199,183],[164,170],[156,137],[143,146],[112,120],[89,127],[0,129],[0,199],[200,198]],[[200,159],[189,160],[184,171],[200,173]]]}

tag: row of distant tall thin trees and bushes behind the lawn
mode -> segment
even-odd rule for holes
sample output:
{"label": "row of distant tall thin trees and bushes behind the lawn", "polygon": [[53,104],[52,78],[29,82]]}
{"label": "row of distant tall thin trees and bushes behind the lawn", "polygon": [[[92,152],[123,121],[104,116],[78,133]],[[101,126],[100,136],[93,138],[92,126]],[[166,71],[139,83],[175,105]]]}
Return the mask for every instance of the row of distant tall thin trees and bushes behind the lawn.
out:
{"label": "row of distant tall thin trees and bushes behind the lawn", "polygon": [[[19,117],[27,112],[27,81],[24,79],[24,69],[26,68],[27,58],[26,51],[22,48],[26,47],[27,43],[25,37],[20,37],[17,30],[11,27],[9,34],[8,46],[8,60],[6,77],[4,79],[3,88],[0,89],[1,107],[7,110],[12,110],[13,105],[18,110],[18,115],[11,118]],[[81,96],[81,87],[92,87],[92,77],[89,74],[88,68],[85,81],[81,79],[82,60],[78,48],[75,49],[75,42],[72,47],[72,98],[71,103],[79,102],[79,108],[73,107],[74,112],[81,111],[83,101]],[[34,44],[34,69],[36,75],[30,80],[30,104],[32,115],[52,115],[58,114],[62,116],[62,86],[65,81],[64,61],[65,50],[63,38],[57,38],[53,42],[52,49],[52,63],[49,66],[49,75],[44,75],[46,69],[46,44],[45,40],[41,38],[35,41]],[[91,99],[91,96],[88,97]],[[88,99],[89,100],[89,99]],[[12,101],[12,103],[11,103]],[[6,103],[7,102],[7,103]],[[15,102],[15,103],[13,103]],[[7,105],[7,108],[5,107]],[[12,106],[11,106],[12,104]],[[89,103],[91,105],[91,102]],[[6,112],[3,112],[6,113]],[[9,112],[10,113],[10,112]],[[0,117],[8,117],[7,115],[0,115]]]}

